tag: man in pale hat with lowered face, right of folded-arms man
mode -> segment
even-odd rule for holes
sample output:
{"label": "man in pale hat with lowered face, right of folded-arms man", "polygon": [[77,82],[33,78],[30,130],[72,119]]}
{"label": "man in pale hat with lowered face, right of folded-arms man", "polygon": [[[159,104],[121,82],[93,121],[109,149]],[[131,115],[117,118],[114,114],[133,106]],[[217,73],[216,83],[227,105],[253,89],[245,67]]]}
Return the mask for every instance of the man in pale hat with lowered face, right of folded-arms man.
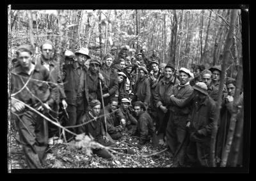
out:
{"label": "man in pale hat with lowered face, right of folded-arms man", "polygon": [[215,102],[208,96],[207,85],[198,82],[193,87],[193,105],[186,127],[189,129],[188,164],[210,166],[210,143],[215,114]]}

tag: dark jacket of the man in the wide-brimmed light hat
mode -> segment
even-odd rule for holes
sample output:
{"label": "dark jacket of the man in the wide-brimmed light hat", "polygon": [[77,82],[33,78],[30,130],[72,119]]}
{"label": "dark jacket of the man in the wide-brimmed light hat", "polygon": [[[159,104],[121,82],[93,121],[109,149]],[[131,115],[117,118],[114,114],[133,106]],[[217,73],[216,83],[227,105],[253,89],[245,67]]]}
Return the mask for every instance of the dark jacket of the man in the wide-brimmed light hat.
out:
{"label": "dark jacket of the man in the wide-brimmed light hat", "polygon": [[[67,103],[70,105],[76,106],[76,100],[77,100],[77,94],[79,83],[80,83],[80,77],[77,73],[77,68],[79,67],[79,64],[77,62],[74,62],[73,64],[68,64],[63,68],[63,82],[64,82],[64,90],[65,94],[67,96]],[[86,105],[88,105],[88,83],[86,82],[88,69],[86,66],[83,66],[84,71],[84,101],[86,101]]]}

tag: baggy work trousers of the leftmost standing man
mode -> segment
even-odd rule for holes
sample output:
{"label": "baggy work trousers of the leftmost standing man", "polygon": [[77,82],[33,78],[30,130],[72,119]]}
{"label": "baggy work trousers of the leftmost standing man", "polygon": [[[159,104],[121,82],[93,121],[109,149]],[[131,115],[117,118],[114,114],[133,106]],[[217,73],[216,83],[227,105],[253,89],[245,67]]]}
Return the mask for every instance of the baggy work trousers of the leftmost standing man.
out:
{"label": "baggy work trousers of the leftmost standing man", "polygon": [[28,167],[42,168],[47,156],[47,120],[31,110],[24,111],[20,119],[17,126]]}

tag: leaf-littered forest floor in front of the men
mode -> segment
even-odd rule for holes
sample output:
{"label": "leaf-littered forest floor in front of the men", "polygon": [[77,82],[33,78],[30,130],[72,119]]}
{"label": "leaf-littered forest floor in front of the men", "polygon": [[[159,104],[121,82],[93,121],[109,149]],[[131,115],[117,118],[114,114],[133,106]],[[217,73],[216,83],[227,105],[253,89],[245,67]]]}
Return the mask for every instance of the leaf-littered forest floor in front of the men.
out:
{"label": "leaf-littered forest floor in front of the men", "polygon": [[[11,169],[26,169],[28,165],[22,147],[15,136],[10,136]],[[122,136],[116,141],[120,154],[113,153],[111,159],[102,159],[95,154],[87,156],[82,150],[70,150],[65,143],[54,144],[49,147],[47,166],[45,168],[169,168],[172,167],[172,154],[166,144],[161,142],[153,147],[148,142],[142,147],[139,139],[131,136]],[[160,152],[160,153],[159,153]]]}

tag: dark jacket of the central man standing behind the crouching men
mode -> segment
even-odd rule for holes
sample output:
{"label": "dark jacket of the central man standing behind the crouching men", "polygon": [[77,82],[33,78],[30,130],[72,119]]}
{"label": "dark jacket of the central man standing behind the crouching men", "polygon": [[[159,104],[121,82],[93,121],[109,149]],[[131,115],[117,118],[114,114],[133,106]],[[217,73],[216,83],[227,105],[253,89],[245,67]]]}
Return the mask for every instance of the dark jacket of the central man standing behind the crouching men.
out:
{"label": "dark jacket of the central man standing behind the crouching men", "polygon": [[150,83],[148,78],[144,77],[138,79],[134,87],[134,98],[132,101],[141,101],[143,103],[150,103]]}

